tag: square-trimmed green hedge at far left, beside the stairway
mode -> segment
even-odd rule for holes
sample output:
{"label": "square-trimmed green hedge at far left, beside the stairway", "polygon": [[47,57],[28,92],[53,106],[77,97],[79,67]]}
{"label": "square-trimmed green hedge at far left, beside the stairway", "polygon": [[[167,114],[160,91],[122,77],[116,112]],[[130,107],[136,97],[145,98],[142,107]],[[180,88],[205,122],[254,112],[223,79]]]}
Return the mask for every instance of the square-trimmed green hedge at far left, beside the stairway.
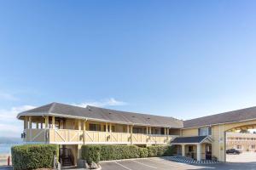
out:
{"label": "square-trimmed green hedge at far left, beside the stairway", "polygon": [[16,145],[11,151],[14,170],[53,167],[54,155],[59,154],[56,144]]}

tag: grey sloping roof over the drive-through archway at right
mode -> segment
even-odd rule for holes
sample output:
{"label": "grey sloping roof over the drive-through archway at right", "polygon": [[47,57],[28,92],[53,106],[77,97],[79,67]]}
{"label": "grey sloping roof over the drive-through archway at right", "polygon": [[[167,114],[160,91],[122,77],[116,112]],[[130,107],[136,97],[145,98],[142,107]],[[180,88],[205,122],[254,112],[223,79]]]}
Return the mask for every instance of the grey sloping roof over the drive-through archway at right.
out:
{"label": "grey sloping roof over the drive-through archway at right", "polygon": [[211,126],[229,122],[244,122],[256,119],[256,107],[203,116],[183,122],[183,128]]}

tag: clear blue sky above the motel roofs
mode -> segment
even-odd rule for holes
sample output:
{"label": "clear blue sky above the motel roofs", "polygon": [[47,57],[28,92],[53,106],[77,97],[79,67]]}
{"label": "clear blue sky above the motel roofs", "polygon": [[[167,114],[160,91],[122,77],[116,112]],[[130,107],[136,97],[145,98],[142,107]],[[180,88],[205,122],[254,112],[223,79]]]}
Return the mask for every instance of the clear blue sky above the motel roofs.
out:
{"label": "clear blue sky above the motel roofs", "polygon": [[174,116],[256,105],[255,1],[1,1],[0,136],[56,101]]}

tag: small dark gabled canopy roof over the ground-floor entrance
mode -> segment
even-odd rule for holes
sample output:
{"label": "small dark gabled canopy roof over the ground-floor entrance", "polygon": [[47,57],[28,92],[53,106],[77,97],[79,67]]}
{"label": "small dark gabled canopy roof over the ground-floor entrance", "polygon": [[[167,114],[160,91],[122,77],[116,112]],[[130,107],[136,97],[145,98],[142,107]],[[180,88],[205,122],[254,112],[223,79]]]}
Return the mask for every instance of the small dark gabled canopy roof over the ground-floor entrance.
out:
{"label": "small dark gabled canopy roof over the ground-floor entrance", "polygon": [[212,139],[209,136],[192,136],[192,137],[177,137],[172,140],[171,144],[212,144]]}

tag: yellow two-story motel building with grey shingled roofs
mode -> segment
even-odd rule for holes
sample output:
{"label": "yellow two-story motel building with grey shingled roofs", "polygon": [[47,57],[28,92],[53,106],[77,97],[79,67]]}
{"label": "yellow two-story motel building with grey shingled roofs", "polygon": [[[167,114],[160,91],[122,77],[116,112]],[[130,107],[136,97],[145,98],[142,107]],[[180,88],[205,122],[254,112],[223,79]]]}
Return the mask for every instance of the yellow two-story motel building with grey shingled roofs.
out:
{"label": "yellow two-story motel building with grey shingled roofs", "polygon": [[59,144],[62,161],[76,164],[83,144],[172,144],[177,155],[225,161],[226,132],[252,128],[256,107],[188,121],[173,117],[52,103],[21,112],[27,144]]}

